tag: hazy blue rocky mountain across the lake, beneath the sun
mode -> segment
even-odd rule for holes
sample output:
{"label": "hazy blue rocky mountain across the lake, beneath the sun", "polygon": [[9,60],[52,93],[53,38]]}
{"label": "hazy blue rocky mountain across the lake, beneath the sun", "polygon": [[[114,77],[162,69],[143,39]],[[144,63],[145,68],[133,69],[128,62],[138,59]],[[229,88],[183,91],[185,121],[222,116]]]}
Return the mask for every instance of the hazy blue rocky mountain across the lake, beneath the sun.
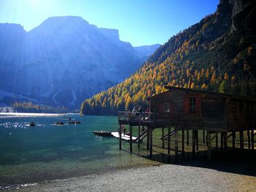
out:
{"label": "hazy blue rocky mountain across the lake, beneath the sun", "polygon": [[1,23],[0,103],[25,97],[78,107],[129,77],[157,47],[132,47],[119,39],[118,30],[97,28],[80,17],[48,18],[29,32]]}

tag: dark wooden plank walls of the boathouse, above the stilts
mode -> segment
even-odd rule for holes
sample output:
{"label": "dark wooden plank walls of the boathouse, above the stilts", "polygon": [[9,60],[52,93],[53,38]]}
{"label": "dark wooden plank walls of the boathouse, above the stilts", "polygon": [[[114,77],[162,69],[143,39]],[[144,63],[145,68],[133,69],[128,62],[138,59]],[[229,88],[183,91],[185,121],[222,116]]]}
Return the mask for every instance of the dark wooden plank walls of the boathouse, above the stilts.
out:
{"label": "dark wooden plank walls of the boathouse, above the stilts", "polygon": [[[221,93],[166,87],[169,91],[149,99],[151,112],[160,121],[178,129],[240,131],[256,128],[256,100]],[[189,98],[195,98],[195,112],[189,112]],[[169,112],[164,104],[169,103]]]}

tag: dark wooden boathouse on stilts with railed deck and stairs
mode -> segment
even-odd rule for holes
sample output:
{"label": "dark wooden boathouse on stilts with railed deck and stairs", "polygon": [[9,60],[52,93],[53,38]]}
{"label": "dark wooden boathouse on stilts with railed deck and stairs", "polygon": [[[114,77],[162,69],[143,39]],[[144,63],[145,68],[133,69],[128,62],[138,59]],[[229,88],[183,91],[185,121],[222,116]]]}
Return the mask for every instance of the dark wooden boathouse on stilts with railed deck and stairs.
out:
{"label": "dark wooden boathouse on stilts with railed deck and stairs", "polygon": [[[232,138],[235,148],[236,134],[239,134],[240,148],[244,149],[244,133],[247,134],[248,148],[255,149],[256,99],[233,96],[224,93],[198,91],[189,88],[165,87],[168,91],[148,99],[151,112],[118,112],[119,135],[121,125],[129,125],[129,150],[132,143],[146,139],[147,149],[152,156],[152,137],[155,128],[162,128],[162,148],[167,139],[167,154],[170,155],[170,137],[174,136],[175,159],[178,153],[184,155],[184,145],[189,145],[189,131],[192,131],[192,155],[198,150],[198,131],[202,131],[206,142],[208,160],[211,150],[219,146],[227,150],[227,139]],[[138,127],[138,137],[132,140],[132,128]],[[171,130],[171,127],[173,130]],[[167,128],[167,134],[164,133]],[[178,151],[178,133],[181,131],[181,152]],[[185,141],[185,131],[187,140]],[[121,150],[121,137],[119,137]],[[216,145],[213,145],[216,142]]]}

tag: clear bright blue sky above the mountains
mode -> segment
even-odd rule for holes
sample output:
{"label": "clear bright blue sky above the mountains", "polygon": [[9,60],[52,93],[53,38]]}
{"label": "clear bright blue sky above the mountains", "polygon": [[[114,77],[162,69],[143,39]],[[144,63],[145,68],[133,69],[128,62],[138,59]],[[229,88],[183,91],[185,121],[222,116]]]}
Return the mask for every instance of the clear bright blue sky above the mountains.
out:
{"label": "clear bright blue sky above the mountains", "polygon": [[0,23],[31,30],[51,16],[80,16],[116,28],[133,46],[164,44],[216,11],[219,0],[0,0]]}

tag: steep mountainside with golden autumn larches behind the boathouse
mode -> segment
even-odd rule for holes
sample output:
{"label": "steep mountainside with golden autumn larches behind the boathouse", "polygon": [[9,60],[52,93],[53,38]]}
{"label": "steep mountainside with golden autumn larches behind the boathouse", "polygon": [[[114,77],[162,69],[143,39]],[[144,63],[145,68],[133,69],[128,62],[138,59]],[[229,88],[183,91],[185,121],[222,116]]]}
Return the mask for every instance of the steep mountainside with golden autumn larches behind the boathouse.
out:
{"label": "steep mountainside with golden autumn larches behind the boathouse", "polygon": [[217,12],[171,37],[124,82],[83,101],[80,112],[146,109],[165,85],[255,97],[255,23],[256,1],[221,0]]}

